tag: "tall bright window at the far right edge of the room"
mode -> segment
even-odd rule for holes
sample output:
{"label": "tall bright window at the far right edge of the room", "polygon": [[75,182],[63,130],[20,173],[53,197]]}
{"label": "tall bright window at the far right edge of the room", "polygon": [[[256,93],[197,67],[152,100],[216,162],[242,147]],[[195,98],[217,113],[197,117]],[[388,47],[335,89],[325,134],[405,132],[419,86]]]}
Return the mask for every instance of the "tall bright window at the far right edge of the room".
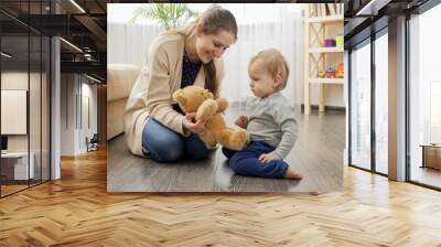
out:
{"label": "tall bright window at the far right edge of the room", "polygon": [[[408,173],[412,182],[441,189],[441,165],[428,167],[423,153],[424,146],[441,143],[441,46],[435,32],[439,23],[440,4],[409,20]],[[440,164],[441,150],[431,152],[431,159]]]}

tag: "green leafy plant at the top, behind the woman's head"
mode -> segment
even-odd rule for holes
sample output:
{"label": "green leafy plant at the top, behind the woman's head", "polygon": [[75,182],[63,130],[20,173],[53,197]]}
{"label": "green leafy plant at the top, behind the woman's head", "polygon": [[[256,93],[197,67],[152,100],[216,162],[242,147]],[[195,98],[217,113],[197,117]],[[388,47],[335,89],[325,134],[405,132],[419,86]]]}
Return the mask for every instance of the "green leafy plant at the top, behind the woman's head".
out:
{"label": "green leafy plant at the top, behind the woman's head", "polygon": [[191,10],[185,3],[153,3],[142,4],[133,11],[130,23],[136,23],[140,18],[151,19],[161,24],[164,30],[175,29],[200,13]]}

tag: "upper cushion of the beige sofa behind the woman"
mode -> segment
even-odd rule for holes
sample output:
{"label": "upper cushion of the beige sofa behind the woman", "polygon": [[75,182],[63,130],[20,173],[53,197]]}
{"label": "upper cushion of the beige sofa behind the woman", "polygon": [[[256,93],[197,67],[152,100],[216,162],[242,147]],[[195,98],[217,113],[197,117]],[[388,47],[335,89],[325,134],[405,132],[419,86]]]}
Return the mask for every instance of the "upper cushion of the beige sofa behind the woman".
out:
{"label": "upper cushion of the beige sofa behind the woman", "polygon": [[107,64],[107,101],[127,98],[139,75],[131,64]]}

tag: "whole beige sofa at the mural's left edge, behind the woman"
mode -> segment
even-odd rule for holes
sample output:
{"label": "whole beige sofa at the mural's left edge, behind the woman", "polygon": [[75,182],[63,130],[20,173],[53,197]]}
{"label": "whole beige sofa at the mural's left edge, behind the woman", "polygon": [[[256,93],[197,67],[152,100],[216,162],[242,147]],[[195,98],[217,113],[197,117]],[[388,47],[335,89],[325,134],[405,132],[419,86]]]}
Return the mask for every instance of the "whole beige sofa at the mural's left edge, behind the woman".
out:
{"label": "whole beige sofa at the mural's left edge, behind the woman", "polygon": [[123,132],[123,111],[139,67],[107,64],[107,140]]}

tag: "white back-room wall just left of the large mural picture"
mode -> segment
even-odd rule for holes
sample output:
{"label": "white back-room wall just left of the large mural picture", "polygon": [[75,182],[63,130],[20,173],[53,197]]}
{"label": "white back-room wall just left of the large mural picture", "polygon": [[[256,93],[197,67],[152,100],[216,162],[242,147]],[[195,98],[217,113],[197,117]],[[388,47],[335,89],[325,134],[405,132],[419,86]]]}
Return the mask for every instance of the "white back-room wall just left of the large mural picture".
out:
{"label": "white back-room wall just left of the large mural picture", "polygon": [[[97,132],[97,87],[90,83],[83,75],[62,74],[61,155],[87,152],[86,137],[92,138]],[[90,127],[84,118],[87,112],[84,111],[83,98],[89,101]]]}

